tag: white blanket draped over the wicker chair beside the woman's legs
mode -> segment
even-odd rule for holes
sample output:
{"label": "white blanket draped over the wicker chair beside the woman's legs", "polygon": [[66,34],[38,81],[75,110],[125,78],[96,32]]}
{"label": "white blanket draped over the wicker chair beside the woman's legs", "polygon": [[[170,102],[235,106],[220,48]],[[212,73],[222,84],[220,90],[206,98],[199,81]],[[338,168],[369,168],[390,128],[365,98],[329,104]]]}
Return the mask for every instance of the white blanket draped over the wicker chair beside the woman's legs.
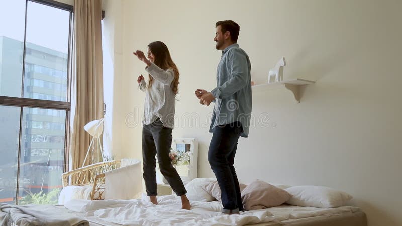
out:
{"label": "white blanket draped over the wicker chair beside the woman's legs", "polygon": [[141,196],[141,162],[105,172],[105,199],[133,199]]}

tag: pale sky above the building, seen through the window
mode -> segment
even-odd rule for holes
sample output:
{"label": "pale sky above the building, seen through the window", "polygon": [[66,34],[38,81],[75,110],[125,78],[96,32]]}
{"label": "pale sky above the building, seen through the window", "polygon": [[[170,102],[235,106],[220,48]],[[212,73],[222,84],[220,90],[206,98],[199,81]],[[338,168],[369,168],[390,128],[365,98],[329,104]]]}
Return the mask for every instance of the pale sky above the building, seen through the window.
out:
{"label": "pale sky above the building, seen through the window", "polygon": [[[68,52],[70,12],[28,1],[27,42]],[[0,0],[0,36],[24,41],[25,0]]]}

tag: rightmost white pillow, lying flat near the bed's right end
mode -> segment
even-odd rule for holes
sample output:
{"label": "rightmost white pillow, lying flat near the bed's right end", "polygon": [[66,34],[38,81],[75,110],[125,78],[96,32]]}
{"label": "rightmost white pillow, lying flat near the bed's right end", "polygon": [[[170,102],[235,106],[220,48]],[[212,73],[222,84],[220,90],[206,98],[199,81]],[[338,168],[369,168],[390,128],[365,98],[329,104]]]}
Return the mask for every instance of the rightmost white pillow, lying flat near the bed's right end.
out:
{"label": "rightmost white pillow, lying flat near the bed's right end", "polygon": [[292,195],[286,203],[298,206],[335,208],[353,198],[346,192],[322,186],[294,186],[285,190]]}

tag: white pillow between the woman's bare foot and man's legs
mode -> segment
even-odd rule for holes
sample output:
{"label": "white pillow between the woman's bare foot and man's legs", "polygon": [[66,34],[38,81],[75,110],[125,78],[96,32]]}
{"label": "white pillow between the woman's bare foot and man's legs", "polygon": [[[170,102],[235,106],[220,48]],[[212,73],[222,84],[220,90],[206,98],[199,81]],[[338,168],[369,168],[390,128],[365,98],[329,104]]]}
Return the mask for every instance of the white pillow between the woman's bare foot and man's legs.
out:
{"label": "white pillow between the woman's bare foot and man's legs", "polygon": [[190,201],[214,201],[215,198],[208,194],[208,192],[206,192],[203,187],[215,180],[215,178],[195,178],[191,180],[185,185],[185,189],[187,190],[187,198]]}

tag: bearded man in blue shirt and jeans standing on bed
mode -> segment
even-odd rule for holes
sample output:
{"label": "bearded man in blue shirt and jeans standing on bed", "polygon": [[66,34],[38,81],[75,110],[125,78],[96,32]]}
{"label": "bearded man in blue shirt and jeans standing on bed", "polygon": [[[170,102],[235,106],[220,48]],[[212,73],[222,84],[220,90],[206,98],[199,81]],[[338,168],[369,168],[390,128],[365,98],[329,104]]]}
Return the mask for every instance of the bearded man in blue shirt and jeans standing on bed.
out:
{"label": "bearded man in blue shirt and jeans standing on bed", "polygon": [[240,26],[234,21],[218,21],[214,41],[222,50],[217,69],[217,87],[211,92],[197,89],[200,103],[215,101],[210,132],[208,161],[222,191],[223,213],[244,211],[239,181],[233,166],[239,136],[248,137],[251,118],[251,64],[237,44]]}

